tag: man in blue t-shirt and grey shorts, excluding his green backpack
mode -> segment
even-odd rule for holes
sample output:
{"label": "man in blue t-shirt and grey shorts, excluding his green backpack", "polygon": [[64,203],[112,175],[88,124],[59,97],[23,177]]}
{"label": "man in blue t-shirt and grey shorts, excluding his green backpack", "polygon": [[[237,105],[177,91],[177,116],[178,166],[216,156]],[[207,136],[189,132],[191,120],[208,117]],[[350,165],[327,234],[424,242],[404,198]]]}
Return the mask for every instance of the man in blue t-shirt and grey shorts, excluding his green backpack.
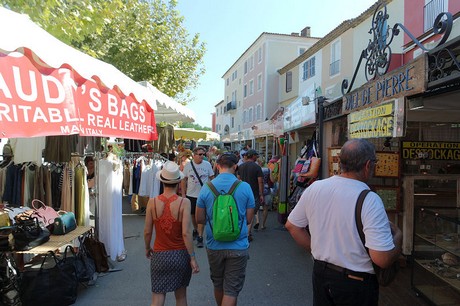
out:
{"label": "man in blue t-shirt and grey shorts, excluding his green backpack", "polygon": [[[223,153],[217,159],[219,175],[212,180],[218,191],[228,192],[237,180],[235,176],[238,159],[233,153]],[[237,304],[243,288],[248,260],[248,225],[254,217],[254,196],[249,184],[241,182],[233,197],[238,206],[240,235],[234,241],[217,241],[212,233],[213,204],[215,196],[210,188],[202,188],[198,196],[196,219],[206,225],[206,251],[210,276],[214,285],[214,297],[219,306]]]}

